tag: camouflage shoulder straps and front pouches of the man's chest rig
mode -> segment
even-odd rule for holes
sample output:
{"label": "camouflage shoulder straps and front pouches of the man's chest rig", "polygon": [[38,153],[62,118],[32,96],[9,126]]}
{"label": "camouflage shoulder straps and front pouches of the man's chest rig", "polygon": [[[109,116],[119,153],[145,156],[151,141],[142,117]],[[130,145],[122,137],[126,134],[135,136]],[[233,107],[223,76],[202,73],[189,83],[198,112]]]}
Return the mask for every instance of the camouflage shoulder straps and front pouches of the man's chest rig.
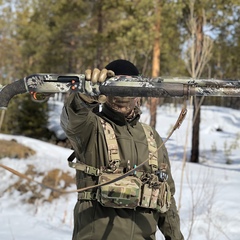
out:
{"label": "camouflage shoulder straps and front pouches of the man's chest rig", "polygon": [[[120,164],[120,156],[115,132],[112,126],[100,118],[108,145],[109,167],[115,171]],[[149,165],[152,171],[158,170],[157,144],[153,137],[153,130],[147,124],[141,123],[148,142]],[[117,174],[104,174],[99,183],[116,178]],[[128,176],[120,181],[101,187],[98,200],[105,207],[135,208],[137,206],[151,208],[159,212],[166,212],[170,207],[171,192],[167,182],[159,182],[156,175],[153,182],[143,184],[135,176]],[[156,187],[157,186],[157,187]]]}

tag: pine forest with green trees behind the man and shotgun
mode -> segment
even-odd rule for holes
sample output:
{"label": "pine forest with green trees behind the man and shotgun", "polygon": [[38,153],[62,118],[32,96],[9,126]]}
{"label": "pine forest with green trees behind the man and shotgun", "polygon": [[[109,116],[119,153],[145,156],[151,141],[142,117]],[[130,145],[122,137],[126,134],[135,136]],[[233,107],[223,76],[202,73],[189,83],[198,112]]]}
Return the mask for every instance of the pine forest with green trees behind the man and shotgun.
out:
{"label": "pine forest with green trees behind the man and shotgun", "polygon": [[[118,58],[133,62],[144,76],[237,80],[239,16],[238,0],[0,0],[0,84],[38,72],[84,73]],[[179,103],[143,101],[152,126],[157,106]],[[193,131],[199,131],[201,104],[240,108],[239,98],[193,103]],[[0,114],[3,133],[52,138],[47,104],[29,95],[14,98]]]}

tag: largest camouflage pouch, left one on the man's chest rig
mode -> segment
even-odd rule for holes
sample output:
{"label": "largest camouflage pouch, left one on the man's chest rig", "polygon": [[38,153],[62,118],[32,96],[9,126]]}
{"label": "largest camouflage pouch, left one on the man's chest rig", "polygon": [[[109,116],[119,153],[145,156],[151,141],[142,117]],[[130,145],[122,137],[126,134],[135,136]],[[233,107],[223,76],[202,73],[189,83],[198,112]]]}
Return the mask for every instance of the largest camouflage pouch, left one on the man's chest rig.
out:
{"label": "largest camouflage pouch, left one on the man's chest rig", "polygon": [[[99,183],[104,183],[119,177],[120,174],[102,174]],[[134,209],[141,198],[142,181],[134,176],[127,176],[114,183],[98,189],[97,199],[105,207]]]}

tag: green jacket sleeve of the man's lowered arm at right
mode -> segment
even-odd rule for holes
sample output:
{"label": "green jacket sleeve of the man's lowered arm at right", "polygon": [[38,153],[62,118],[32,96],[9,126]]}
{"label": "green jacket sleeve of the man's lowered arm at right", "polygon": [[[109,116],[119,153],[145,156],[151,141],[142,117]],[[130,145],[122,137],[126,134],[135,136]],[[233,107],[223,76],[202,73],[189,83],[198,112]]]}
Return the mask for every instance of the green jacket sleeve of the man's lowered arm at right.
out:
{"label": "green jacket sleeve of the man's lowered arm at right", "polygon": [[[159,136],[158,136],[159,137]],[[159,137],[159,145],[162,144],[162,139]],[[159,162],[165,162],[168,164],[168,184],[171,189],[171,206],[166,213],[160,213],[158,220],[158,228],[165,236],[166,240],[184,240],[184,237],[180,230],[180,218],[176,207],[176,202],[174,199],[175,194],[175,183],[171,173],[171,165],[168,157],[168,152],[165,145],[161,148],[163,159],[159,159]]]}

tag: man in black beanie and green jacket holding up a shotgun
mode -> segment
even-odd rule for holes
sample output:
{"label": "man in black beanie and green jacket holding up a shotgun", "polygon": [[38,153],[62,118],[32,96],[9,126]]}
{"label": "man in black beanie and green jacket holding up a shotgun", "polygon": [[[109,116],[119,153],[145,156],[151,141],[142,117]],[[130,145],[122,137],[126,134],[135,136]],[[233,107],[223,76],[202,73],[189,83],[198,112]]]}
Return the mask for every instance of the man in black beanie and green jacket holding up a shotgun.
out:
{"label": "man in black beanie and green jacket holding up a shotgun", "polygon": [[[153,160],[149,160],[149,164],[145,164],[136,173],[128,176],[130,180],[127,177],[124,178],[122,181],[126,184],[118,182],[105,187],[101,190],[102,192],[93,188],[79,193],[74,209],[73,240],[155,239],[157,225],[167,240],[183,240],[173,197],[175,186],[167,150],[164,146],[160,147],[162,139],[158,133],[154,129],[145,130],[147,126],[139,122],[141,114],[139,99],[91,96],[92,84],[104,82],[107,77],[112,77],[114,74],[136,76],[139,72],[131,62],[121,59],[109,63],[102,71],[87,70],[85,73],[87,94],[72,93],[62,111],[61,125],[73,146],[79,166],[86,164],[89,166],[88,169],[92,169],[91,173],[84,171],[85,168],[79,168],[80,170],[76,171],[77,187],[84,188],[98,184],[101,173],[103,173],[102,176],[111,179],[115,173],[124,174],[148,158]],[[100,103],[103,103],[101,112],[93,113],[93,108]],[[150,145],[153,146],[154,151],[156,150],[155,153]],[[166,179],[157,177],[160,166],[168,166],[165,172]],[[136,197],[139,192],[139,179],[141,179],[139,188],[146,187],[146,191],[142,190],[140,200]],[[114,198],[114,194],[119,189],[125,191],[127,184],[131,185],[132,182],[134,184],[131,194],[124,195],[124,192],[123,195],[127,196],[126,198],[119,200],[121,194]],[[154,190],[150,189],[150,186],[154,185],[152,183],[158,186]],[[171,204],[159,211],[157,203],[162,201],[164,206],[167,206],[167,198],[161,200],[160,195],[157,194],[158,201],[152,200],[154,207],[153,205],[149,207],[147,193],[150,191],[151,195],[153,192],[158,192],[160,186],[164,186],[161,188],[164,189],[164,194],[168,192],[165,191],[165,186],[170,186]],[[144,191],[147,193],[145,194]],[[152,198],[154,198],[153,195],[151,195]],[[125,205],[124,201],[127,202]]]}

